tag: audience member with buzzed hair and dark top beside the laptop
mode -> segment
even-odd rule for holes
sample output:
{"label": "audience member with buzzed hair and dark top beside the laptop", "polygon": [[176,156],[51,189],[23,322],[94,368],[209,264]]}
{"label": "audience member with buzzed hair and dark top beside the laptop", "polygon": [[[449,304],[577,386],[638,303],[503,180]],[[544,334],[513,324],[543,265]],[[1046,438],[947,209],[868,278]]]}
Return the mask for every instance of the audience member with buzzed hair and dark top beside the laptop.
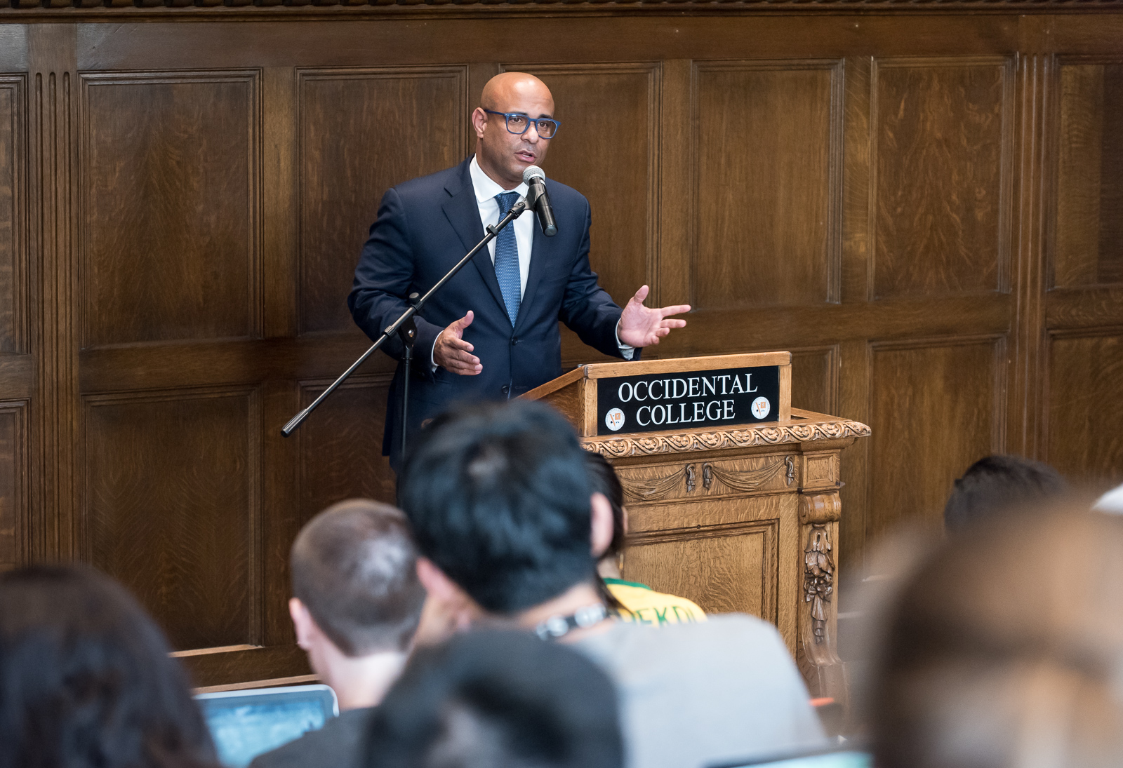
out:
{"label": "audience member with buzzed hair and dark top beside the laptop", "polygon": [[339,502],[301,529],[291,569],[296,643],[336,692],[339,716],[250,768],[360,765],[362,734],[405,666],[424,601],[409,523],[386,504]]}

